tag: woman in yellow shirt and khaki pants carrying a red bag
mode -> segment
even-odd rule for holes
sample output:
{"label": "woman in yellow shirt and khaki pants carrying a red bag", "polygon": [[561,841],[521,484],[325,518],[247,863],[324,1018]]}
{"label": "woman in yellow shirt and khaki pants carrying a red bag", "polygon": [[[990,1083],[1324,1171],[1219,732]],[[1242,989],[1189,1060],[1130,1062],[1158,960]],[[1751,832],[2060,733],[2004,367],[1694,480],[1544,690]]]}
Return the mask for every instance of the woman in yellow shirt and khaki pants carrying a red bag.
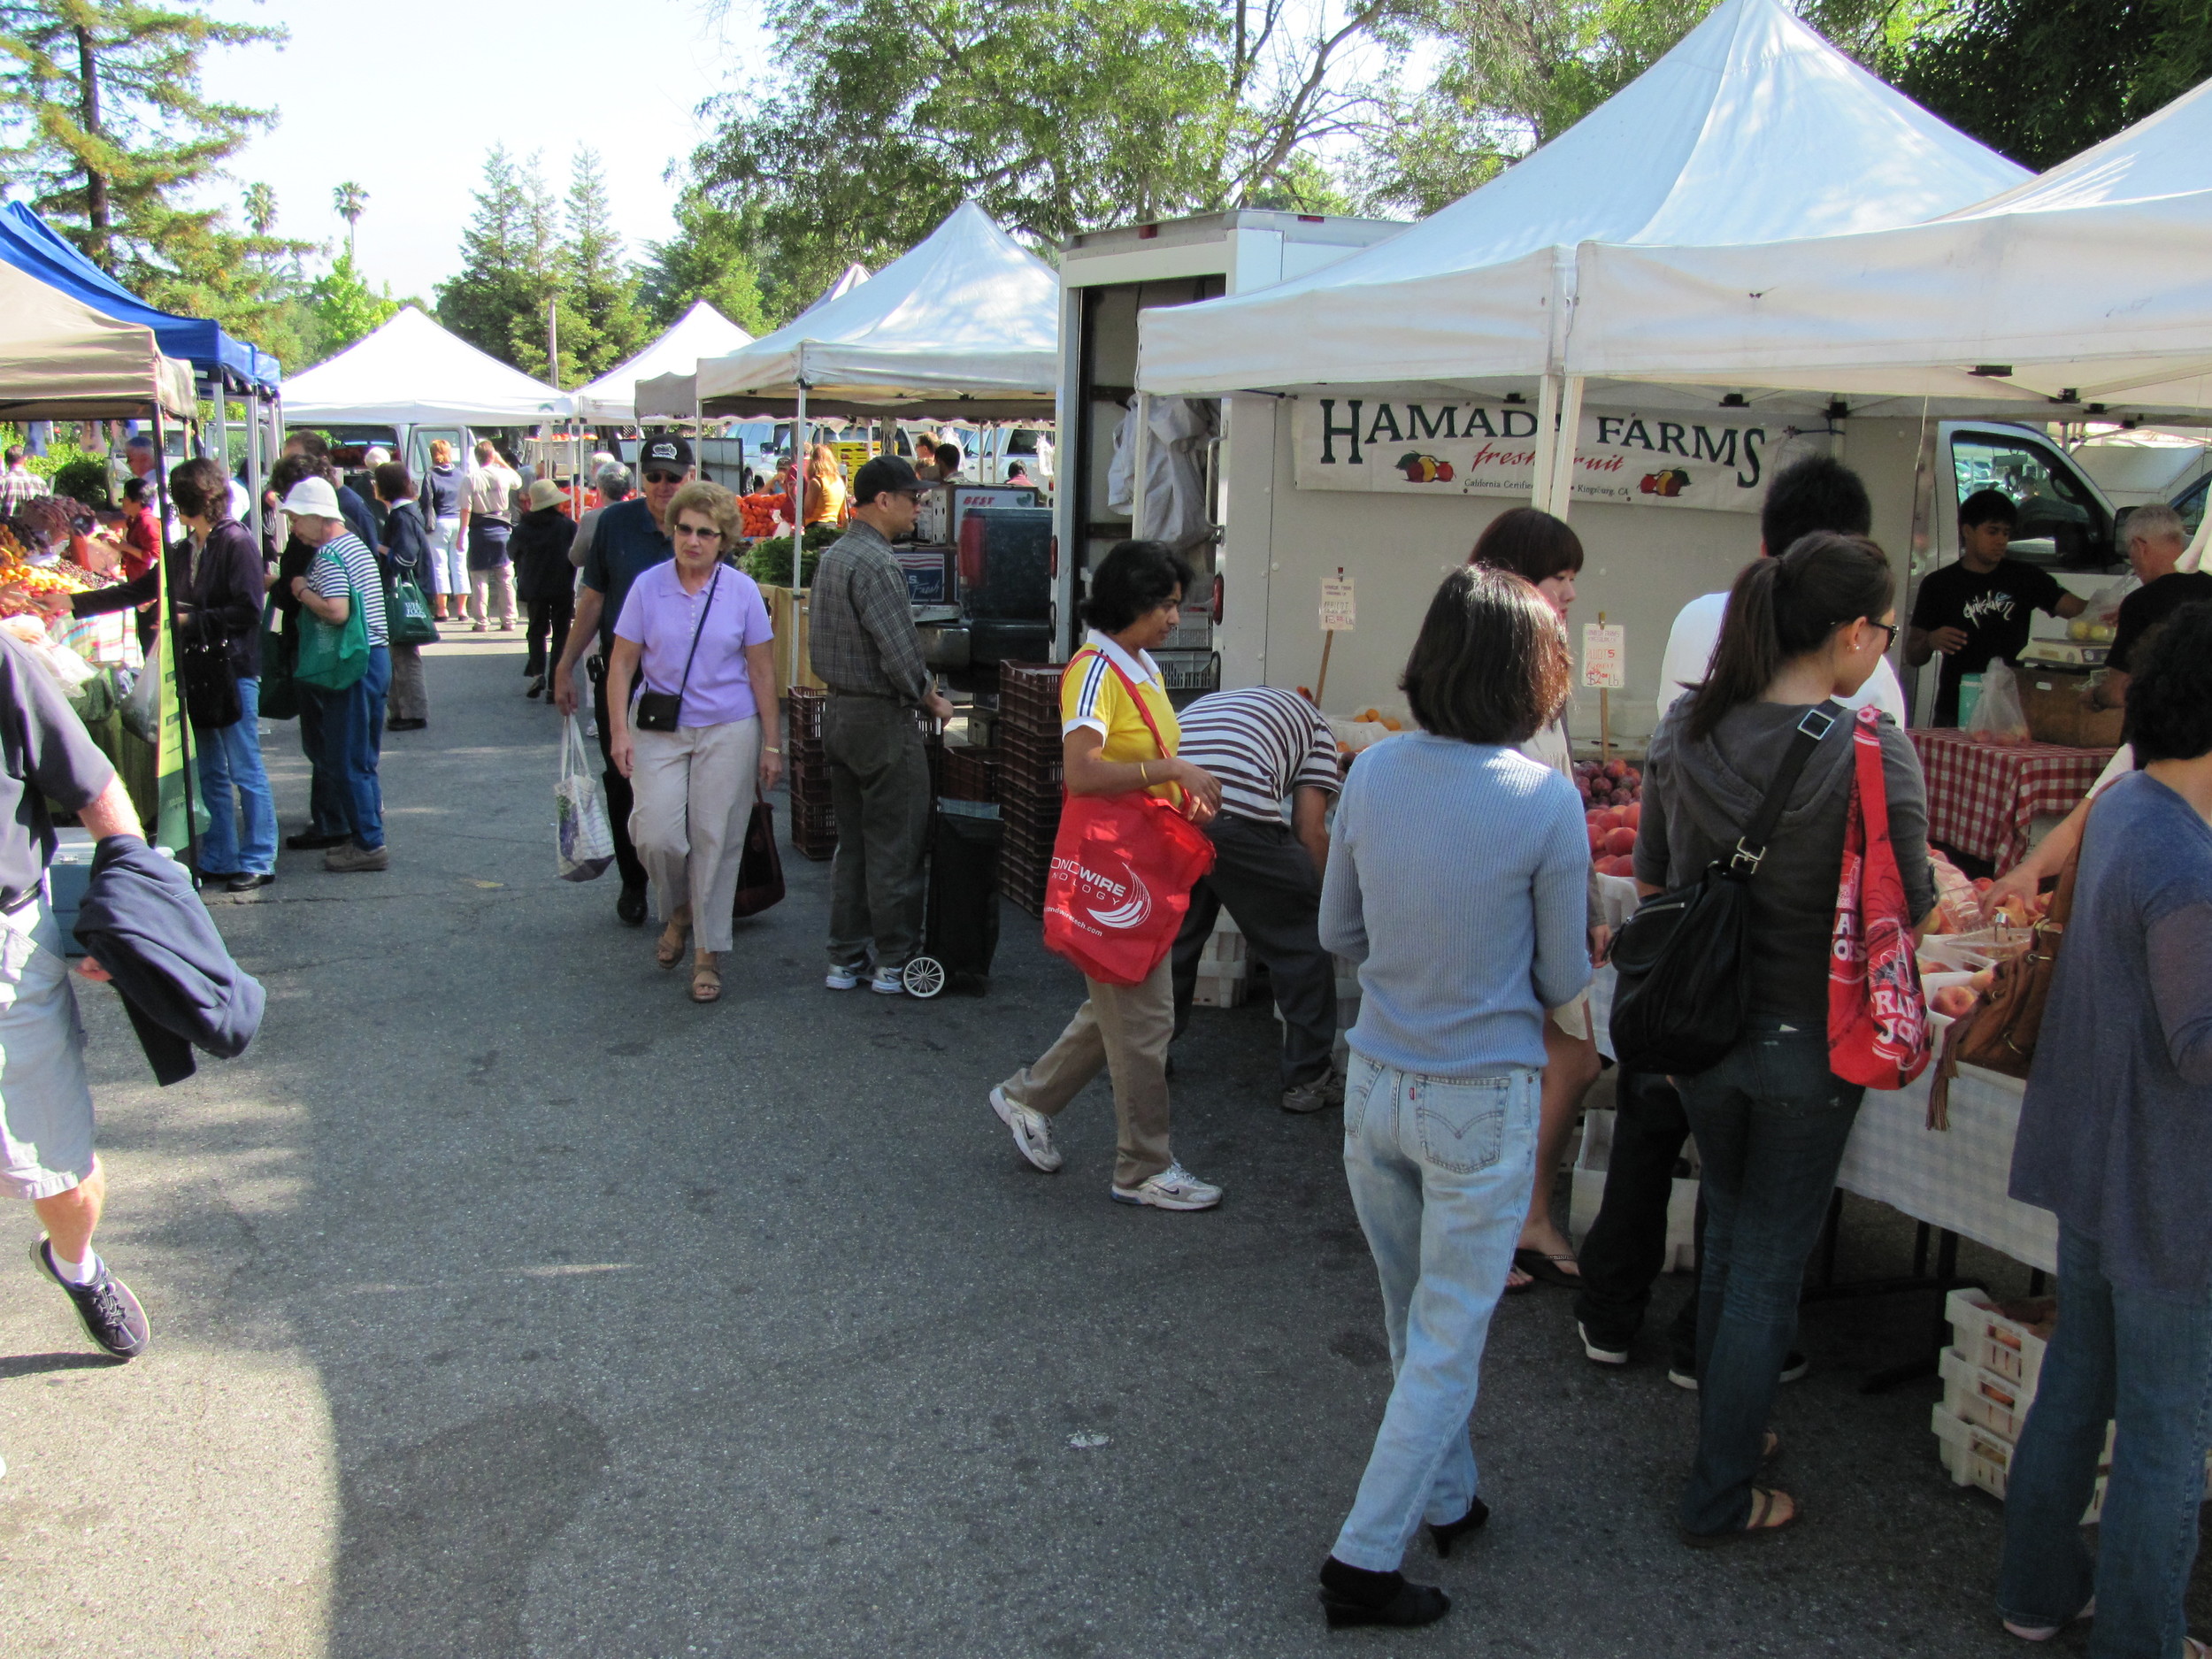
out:
{"label": "woman in yellow shirt and khaki pants carrying a red bag", "polygon": [[[1091,573],[1084,648],[1060,677],[1060,757],[1068,794],[1150,790],[1203,823],[1221,783],[1175,757],[1181,737],[1152,646],[1183,615],[1190,566],[1159,542],[1117,542]],[[1157,741],[1155,741],[1157,732]],[[1168,1040],[1175,1037],[1175,953],[1144,984],[1086,975],[1091,995],[1044,1055],[991,1091],[991,1110],[1031,1166],[1060,1168],[1053,1119],[1104,1066],[1113,1077],[1117,1203],[1210,1210],[1221,1188],[1168,1150]]]}

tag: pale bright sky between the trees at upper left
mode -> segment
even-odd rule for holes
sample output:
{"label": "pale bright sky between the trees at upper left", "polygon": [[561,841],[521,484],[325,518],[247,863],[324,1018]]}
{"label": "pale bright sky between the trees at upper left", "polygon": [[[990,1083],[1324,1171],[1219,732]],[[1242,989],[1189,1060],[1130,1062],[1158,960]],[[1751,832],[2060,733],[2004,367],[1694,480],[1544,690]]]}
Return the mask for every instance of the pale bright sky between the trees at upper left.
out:
{"label": "pale bright sky between the trees at upper left", "polygon": [[[230,159],[219,199],[243,226],[248,184],[276,190],[276,234],[341,243],[332,188],[367,188],[356,252],[372,285],[434,299],[460,263],[484,153],[542,153],[555,192],[577,144],[599,153],[628,254],[672,232],[664,181],[703,137],[701,100],[759,64],[754,7],[732,0],[215,0],[234,22],[283,24],[283,46],[221,46],[204,91],[274,106],[279,119]],[[314,261],[310,261],[314,270]]]}

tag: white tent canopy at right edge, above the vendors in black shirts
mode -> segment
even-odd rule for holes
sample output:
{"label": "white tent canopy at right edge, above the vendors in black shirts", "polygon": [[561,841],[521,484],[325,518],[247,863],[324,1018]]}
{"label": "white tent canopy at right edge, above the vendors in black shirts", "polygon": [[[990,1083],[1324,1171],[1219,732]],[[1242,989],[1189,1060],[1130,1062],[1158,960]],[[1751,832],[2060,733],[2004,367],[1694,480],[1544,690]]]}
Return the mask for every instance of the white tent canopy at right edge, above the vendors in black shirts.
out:
{"label": "white tent canopy at right edge, above the vendors in black shirts", "polygon": [[[1575,374],[2026,418],[2212,409],[2212,82],[1933,223],[1584,248]],[[2108,416],[2110,418],[2110,416]]]}

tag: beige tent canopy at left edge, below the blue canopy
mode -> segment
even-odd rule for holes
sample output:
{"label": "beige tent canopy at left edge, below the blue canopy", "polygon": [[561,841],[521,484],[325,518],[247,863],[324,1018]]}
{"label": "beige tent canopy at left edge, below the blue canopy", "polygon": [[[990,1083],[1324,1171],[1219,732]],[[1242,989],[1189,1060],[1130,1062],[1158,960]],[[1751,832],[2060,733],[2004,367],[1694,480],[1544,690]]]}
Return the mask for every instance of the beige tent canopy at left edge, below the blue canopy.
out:
{"label": "beige tent canopy at left edge, below the blue canopy", "polygon": [[0,420],[190,418],[192,365],[153,330],[119,323],[0,263]]}

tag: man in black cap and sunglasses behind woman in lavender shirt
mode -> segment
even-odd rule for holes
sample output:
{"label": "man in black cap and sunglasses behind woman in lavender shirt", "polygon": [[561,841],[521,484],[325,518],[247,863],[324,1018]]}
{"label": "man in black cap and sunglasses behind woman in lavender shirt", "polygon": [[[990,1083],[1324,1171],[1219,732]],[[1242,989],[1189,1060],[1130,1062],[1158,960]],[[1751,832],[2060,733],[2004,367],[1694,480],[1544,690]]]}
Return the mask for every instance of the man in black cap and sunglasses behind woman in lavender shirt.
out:
{"label": "man in black cap and sunglasses behind woman in lavender shirt", "polygon": [[591,708],[599,721],[599,757],[606,761],[602,787],[606,790],[606,816],[615,827],[615,867],[622,872],[622,896],[615,900],[615,916],[630,927],[646,920],[646,865],[630,845],[630,781],[608,754],[606,719],[606,661],[615,648],[615,617],[622,602],[630,597],[630,584],[655,564],[675,557],[668,540],[668,502],[692,476],[690,442],[684,438],[648,438],[637,456],[644,491],[615,502],[599,513],[584,555],[584,588],[575,595],[575,622],[568,626],[568,646],[553,668],[553,703],[562,714],[573,714],[582,701],[575,690],[575,664],[597,646],[591,659]]}

